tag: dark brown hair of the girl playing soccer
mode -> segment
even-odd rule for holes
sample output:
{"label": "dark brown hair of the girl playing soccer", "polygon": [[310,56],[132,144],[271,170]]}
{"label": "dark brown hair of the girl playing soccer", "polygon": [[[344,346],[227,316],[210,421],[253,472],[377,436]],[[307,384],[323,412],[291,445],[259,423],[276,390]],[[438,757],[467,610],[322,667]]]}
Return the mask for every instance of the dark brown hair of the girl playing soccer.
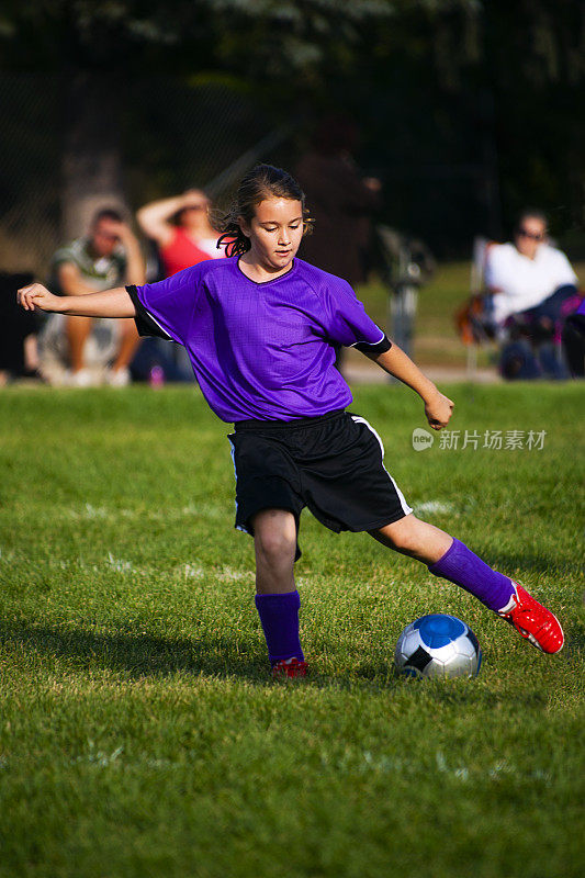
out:
{"label": "dark brown hair of the girl playing soccer", "polygon": [[251,223],[256,205],[270,198],[300,201],[303,211],[303,235],[312,230],[313,221],[305,205],[305,193],[296,180],[282,168],[257,165],[241,179],[236,200],[229,211],[215,219],[215,227],[222,233],[217,247],[225,247],[226,256],[240,256],[250,249],[250,239],[239,227],[238,218]]}

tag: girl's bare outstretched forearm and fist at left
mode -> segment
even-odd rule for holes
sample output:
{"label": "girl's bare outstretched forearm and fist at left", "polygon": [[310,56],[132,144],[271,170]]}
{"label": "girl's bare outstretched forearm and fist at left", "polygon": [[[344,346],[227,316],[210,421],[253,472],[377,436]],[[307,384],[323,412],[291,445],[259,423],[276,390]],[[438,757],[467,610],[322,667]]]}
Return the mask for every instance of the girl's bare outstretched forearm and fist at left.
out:
{"label": "girl's bare outstretched forearm and fist at left", "polygon": [[42,283],[22,286],[16,293],[25,311],[49,311],[78,317],[135,317],[136,309],[124,286],[103,293],[85,295],[54,295]]}

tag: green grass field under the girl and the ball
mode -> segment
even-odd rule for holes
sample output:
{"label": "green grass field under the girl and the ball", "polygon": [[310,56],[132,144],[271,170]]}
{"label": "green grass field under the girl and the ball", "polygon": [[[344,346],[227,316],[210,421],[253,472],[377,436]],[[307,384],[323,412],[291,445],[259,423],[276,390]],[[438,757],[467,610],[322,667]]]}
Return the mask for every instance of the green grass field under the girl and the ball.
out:
{"label": "green grass field under the girl and the ball", "polygon": [[[269,679],[228,428],[199,392],[0,393],[2,878],[583,874],[583,390],[443,390],[453,430],[544,447],[415,452],[402,386],[355,410],[415,510],[543,598],[567,645],[540,654],[305,511],[305,684]],[[431,611],[474,629],[476,679],[393,673]]]}

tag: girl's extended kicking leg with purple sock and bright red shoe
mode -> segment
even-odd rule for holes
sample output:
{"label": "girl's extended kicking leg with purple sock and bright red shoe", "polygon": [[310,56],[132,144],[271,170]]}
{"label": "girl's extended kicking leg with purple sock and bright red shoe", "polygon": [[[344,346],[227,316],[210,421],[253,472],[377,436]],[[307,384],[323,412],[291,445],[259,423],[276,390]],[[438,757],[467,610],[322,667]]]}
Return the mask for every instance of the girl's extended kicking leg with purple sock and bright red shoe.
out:
{"label": "girl's extended kicking leg with purple sock and bright red shoe", "polygon": [[555,653],[562,649],[563,629],[556,617],[521,585],[492,570],[464,543],[445,531],[407,515],[370,532],[384,545],[423,561],[435,576],[442,576],[475,595],[539,650]]}

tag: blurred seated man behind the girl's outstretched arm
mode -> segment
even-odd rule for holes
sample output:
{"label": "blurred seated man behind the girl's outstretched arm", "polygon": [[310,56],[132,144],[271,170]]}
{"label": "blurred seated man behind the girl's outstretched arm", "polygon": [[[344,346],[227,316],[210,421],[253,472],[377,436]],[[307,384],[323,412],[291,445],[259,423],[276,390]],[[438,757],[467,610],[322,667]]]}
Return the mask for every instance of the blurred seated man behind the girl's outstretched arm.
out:
{"label": "blurred seated man behind the girl's outstretched arm", "polygon": [[[136,237],[116,210],[104,207],[93,216],[86,237],[57,250],[52,261],[49,284],[63,296],[77,297],[109,290],[119,283],[144,283],[145,279],[144,259]],[[85,359],[92,320],[77,313],[63,313],[68,314],[65,335],[70,361],[69,383],[86,387],[94,383]],[[130,320],[120,320],[119,330],[117,351],[106,381],[121,387],[130,383],[128,367],[140,339]]]}

